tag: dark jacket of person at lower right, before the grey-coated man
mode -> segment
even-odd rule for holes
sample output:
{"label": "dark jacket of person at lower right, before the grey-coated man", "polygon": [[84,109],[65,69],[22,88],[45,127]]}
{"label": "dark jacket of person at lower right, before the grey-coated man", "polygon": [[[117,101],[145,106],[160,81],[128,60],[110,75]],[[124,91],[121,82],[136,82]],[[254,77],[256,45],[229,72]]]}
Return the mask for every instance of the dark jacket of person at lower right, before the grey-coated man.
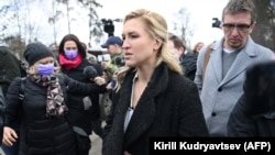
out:
{"label": "dark jacket of person at lower right, before the grey-coated man", "polygon": [[228,135],[233,137],[275,136],[275,112],[251,115],[250,104],[242,96],[228,121]]}

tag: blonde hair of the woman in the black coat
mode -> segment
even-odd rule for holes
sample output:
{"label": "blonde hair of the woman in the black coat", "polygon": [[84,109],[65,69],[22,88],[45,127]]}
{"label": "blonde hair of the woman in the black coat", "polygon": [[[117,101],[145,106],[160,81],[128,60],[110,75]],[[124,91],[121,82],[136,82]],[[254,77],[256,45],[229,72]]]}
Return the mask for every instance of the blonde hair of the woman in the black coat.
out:
{"label": "blonde hair of the woman in the black coat", "polygon": [[[123,22],[125,24],[125,22],[128,22],[129,20],[138,18],[143,21],[144,25],[146,25],[145,31],[152,36],[152,38],[162,41],[162,45],[158,48],[155,67],[158,66],[162,62],[165,62],[170,70],[183,74],[182,67],[173,57],[172,52],[169,52],[167,47],[168,32],[165,19],[156,12],[145,9],[138,9],[127,14]],[[122,70],[119,71],[116,90],[120,89],[123,77],[130,69],[132,68],[125,66]]]}

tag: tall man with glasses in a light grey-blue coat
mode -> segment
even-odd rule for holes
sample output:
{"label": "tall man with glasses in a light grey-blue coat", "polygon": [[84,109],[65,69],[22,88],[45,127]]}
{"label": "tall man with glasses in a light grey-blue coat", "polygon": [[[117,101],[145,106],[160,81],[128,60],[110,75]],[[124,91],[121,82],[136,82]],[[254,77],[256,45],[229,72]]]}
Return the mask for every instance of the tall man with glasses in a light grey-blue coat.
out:
{"label": "tall man with glasses in a light grey-blue coat", "polygon": [[246,68],[274,55],[250,36],[256,24],[255,12],[252,0],[228,2],[222,11],[224,36],[212,44],[204,79],[207,46],[199,53],[195,82],[201,90],[204,114],[211,136],[228,136],[227,123],[243,93]]}

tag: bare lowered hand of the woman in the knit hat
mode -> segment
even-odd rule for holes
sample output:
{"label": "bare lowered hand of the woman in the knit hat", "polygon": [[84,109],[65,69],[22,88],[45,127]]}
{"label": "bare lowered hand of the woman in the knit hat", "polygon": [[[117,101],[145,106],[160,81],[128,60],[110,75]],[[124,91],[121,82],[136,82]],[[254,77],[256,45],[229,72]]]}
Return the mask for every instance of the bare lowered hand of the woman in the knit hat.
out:
{"label": "bare lowered hand of the woman in the knit hat", "polygon": [[3,128],[3,139],[2,139],[2,143],[6,146],[12,146],[13,143],[16,142],[18,139],[18,134],[15,133],[15,131],[9,126],[4,126]]}

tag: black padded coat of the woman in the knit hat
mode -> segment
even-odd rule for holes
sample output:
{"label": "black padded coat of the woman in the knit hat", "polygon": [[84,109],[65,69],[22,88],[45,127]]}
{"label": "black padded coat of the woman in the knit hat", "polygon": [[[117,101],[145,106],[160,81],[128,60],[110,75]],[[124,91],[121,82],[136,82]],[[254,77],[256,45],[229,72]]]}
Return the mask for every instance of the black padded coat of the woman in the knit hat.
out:
{"label": "black padded coat of the woman in the knit hat", "polygon": [[[89,95],[99,89],[96,85],[80,84],[65,75],[58,78],[65,103],[68,92]],[[74,132],[65,117],[46,117],[47,87],[29,78],[24,87],[23,102],[19,99],[20,78],[12,81],[7,92],[6,126],[21,120],[19,155],[76,155]]]}

